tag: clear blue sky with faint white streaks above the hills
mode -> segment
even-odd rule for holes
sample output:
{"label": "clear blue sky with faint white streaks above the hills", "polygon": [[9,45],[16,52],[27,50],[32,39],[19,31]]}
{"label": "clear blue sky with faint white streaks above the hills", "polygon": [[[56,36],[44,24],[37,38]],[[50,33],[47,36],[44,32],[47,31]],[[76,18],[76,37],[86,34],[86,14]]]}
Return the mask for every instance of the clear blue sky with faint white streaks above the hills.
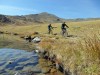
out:
{"label": "clear blue sky with faint white streaks above the hills", "polygon": [[0,14],[48,12],[65,19],[100,17],[100,0],[0,0]]}

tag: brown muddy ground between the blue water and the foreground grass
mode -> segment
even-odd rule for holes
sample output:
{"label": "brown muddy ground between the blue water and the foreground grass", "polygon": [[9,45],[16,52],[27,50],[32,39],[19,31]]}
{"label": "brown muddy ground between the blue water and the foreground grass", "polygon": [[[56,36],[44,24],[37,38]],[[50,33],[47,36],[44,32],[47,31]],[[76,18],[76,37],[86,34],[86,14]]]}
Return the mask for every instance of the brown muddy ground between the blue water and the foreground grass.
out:
{"label": "brown muddy ground between the blue water and the foreground grass", "polygon": [[64,75],[58,63],[56,63],[56,59],[49,57],[48,52],[39,51],[39,66],[41,68],[41,72],[45,75]]}

